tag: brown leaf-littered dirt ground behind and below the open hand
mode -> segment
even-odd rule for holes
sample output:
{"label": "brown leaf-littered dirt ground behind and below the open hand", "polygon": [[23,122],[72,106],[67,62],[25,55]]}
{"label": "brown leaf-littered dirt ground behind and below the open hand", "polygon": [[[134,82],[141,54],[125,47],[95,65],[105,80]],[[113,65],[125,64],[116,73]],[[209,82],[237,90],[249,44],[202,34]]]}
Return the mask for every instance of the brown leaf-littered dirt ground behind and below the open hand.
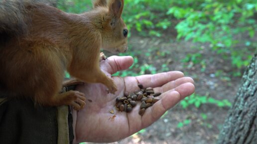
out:
{"label": "brown leaf-littered dirt ground behind and below the open hand", "polygon": [[[196,94],[208,95],[218,100],[228,99],[233,103],[241,77],[233,77],[231,72],[235,69],[230,62],[210,51],[208,45],[176,42],[172,35],[166,35],[159,39],[132,35],[129,42],[132,45],[130,51],[139,51],[138,54],[135,53],[135,56],[140,65],[152,64],[159,72],[161,65],[166,64],[169,70],[179,70],[186,76],[192,77],[195,80]],[[201,50],[194,49],[199,46]],[[151,55],[144,56],[143,54],[147,52],[150,52]],[[181,59],[193,52],[201,53],[206,65],[204,71],[201,71],[201,64],[181,62]],[[156,58],[156,56],[158,57]],[[222,70],[224,72],[222,75],[231,80],[215,76],[217,70]],[[203,104],[200,108],[189,106],[186,109],[177,105],[142,133],[111,144],[215,144],[228,110],[229,107],[219,108],[214,104]],[[201,114],[206,114],[207,119],[204,120]],[[186,119],[190,119],[191,123],[177,128],[177,124]]]}

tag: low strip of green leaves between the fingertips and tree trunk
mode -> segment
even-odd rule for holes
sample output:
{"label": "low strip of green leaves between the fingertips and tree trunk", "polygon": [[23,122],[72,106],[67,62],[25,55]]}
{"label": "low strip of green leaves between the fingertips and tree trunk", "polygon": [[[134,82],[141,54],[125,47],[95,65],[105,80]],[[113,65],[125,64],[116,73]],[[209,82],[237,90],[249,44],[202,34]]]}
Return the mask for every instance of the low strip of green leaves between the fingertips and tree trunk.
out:
{"label": "low strip of green leaves between the fingertips and tree trunk", "polygon": [[208,96],[200,96],[198,94],[192,94],[190,97],[186,97],[180,102],[180,105],[185,109],[190,105],[194,105],[199,108],[202,104],[215,104],[218,107],[231,107],[232,104],[227,100],[216,100]]}

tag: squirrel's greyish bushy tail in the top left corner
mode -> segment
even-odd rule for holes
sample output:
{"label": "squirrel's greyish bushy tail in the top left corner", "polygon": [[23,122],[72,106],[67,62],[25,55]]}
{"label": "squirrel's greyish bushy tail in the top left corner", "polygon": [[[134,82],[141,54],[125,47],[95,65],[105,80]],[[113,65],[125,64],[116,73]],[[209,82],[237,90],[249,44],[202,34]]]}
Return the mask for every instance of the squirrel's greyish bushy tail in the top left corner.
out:
{"label": "squirrel's greyish bushy tail in the top left corner", "polygon": [[53,4],[56,0],[0,0],[0,44],[10,37],[26,34],[30,18],[28,6]]}

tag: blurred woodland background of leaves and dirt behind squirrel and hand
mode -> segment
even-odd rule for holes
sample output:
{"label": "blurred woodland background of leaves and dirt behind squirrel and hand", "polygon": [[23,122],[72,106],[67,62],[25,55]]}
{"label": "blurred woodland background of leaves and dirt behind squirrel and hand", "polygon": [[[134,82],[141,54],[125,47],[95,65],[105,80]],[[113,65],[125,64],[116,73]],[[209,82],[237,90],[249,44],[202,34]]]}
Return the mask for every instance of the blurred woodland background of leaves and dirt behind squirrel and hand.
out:
{"label": "blurred woodland background of leaves and dirt behind squirrel and hand", "polygon": [[[91,0],[57,1],[66,12],[92,9]],[[195,80],[196,91],[152,126],[114,144],[215,144],[257,53],[257,1],[124,1],[129,49],[119,55],[132,56],[134,64],[115,75],[179,70]]]}

